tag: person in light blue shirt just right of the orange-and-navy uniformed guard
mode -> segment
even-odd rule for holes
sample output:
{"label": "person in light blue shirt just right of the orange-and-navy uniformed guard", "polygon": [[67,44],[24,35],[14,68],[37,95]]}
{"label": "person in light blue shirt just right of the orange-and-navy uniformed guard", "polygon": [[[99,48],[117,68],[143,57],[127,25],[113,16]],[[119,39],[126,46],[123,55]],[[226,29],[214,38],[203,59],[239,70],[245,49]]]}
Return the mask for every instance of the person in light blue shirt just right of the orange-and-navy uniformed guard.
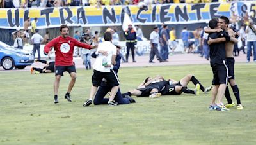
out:
{"label": "person in light blue shirt just right of the orange-and-navy uniformed guard", "polygon": [[159,59],[159,62],[162,62],[162,58],[161,55],[159,54],[158,51],[158,45],[159,45],[159,34],[158,34],[158,27],[155,26],[154,27],[154,31],[152,31],[150,33],[150,45],[151,45],[151,51],[150,51],[150,59],[149,59],[149,63],[154,63],[154,57],[156,55],[156,57]]}

